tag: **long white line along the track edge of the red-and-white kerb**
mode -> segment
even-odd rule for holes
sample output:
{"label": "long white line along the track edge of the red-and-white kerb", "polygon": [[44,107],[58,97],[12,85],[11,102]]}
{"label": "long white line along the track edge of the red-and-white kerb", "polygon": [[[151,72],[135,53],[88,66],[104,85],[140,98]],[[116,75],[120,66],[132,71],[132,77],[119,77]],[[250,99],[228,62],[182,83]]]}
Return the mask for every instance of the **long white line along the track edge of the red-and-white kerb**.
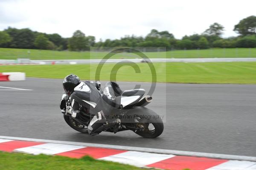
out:
{"label": "long white line along the track edge of the red-and-white kerb", "polygon": [[241,161],[256,161],[256,157],[253,157],[253,156],[238,156],[238,155],[227,155],[227,154],[217,154],[217,153],[200,153],[200,152],[189,152],[189,151],[181,151],[181,150],[164,150],[164,149],[154,149],[154,148],[147,148],[147,147],[128,147],[128,146],[111,145],[111,144],[93,144],[93,143],[73,142],[73,141],[55,141],[55,140],[47,140],[47,139],[20,138],[20,137],[12,137],[12,136],[0,136],[0,138],[20,140],[20,141],[38,141],[38,142],[55,143],[55,144],[72,144],[72,145],[80,145],[80,146],[87,146],[87,147],[102,147],[102,148],[111,148],[111,149],[117,149],[117,150],[132,150],[132,151],[148,152],[148,153],[197,156],[197,157],[220,158],[220,159],[241,160]]}

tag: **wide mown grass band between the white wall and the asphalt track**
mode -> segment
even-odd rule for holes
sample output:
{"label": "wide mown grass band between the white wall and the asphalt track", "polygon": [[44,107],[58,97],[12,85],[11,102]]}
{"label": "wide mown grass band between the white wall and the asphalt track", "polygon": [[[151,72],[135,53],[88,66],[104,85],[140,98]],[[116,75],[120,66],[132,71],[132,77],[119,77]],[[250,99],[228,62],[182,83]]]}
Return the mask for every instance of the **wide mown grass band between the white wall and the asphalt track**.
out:
{"label": "wide mown grass band between the white wall and the asphalt track", "polygon": [[[110,72],[115,64],[105,64],[100,80],[110,80]],[[0,66],[0,72],[26,72],[28,77],[64,78],[73,73],[84,80],[95,80],[97,64],[85,65],[23,65]],[[151,82],[151,72],[147,63],[138,63],[141,73],[135,73],[131,66],[113,69],[117,81]],[[219,63],[154,63],[157,82],[168,83],[216,83],[216,84],[256,84],[256,62]]]}

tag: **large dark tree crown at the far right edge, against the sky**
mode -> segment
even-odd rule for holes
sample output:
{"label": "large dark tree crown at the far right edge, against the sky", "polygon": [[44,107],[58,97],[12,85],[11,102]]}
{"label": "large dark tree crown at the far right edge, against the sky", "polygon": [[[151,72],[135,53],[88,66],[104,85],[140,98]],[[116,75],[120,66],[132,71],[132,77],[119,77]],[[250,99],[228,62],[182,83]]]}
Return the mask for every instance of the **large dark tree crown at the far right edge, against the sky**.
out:
{"label": "large dark tree crown at the far right edge, against the sky", "polygon": [[242,36],[256,35],[256,16],[250,16],[239,21],[233,29]]}

